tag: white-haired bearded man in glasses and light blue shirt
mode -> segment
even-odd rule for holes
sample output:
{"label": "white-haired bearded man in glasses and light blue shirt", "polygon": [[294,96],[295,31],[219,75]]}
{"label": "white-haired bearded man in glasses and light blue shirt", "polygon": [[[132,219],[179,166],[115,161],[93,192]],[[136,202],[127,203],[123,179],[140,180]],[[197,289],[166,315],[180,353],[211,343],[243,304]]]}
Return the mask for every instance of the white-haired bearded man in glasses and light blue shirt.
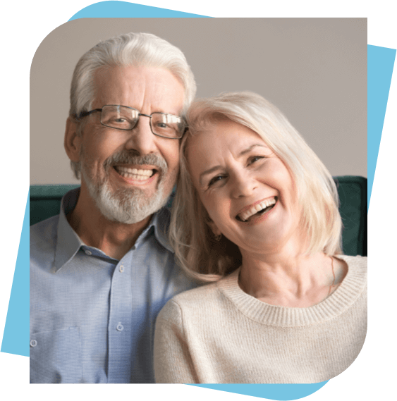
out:
{"label": "white-haired bearded man in glasses and light blue shirt", "polygon": [[166,240],[195,90],[181,51],[154,35],[80,58],[64,146],[81,187],[30,231],[30,383],[154,383],[157,314],[195,286]]}

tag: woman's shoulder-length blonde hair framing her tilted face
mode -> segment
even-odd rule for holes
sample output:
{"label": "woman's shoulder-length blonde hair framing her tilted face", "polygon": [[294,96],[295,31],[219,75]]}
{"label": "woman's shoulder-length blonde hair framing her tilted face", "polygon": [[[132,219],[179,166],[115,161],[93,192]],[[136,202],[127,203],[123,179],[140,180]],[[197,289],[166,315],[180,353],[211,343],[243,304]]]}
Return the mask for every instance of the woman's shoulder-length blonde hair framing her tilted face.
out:
{"label": "woman's shoulder-length blonde hair framing her tilted face", "polygon": [[[302,207],[300,225],[308,235],[306,254],[342,254],[338,191],[329,171],[303,137],[269,101],[252,92],[198,99],[187,113],[189,130],[181,142],[181,165],[173,199],[169,237],[176,259],[191,276],[214,281],[238,269],[241,254],[224,235],[217,241],[188,171],[190,137],[228,118],[262,137],[290,171]],[[211,142],[208,142],[211,146]]]}

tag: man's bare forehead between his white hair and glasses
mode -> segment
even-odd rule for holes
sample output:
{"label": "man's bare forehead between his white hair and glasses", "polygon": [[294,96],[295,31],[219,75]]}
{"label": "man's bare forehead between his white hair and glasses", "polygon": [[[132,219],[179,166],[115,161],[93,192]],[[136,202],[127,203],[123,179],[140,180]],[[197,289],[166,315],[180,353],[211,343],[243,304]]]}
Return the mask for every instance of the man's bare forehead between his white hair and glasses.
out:
{"label": "man's bare forehead between his white hair and glasses", "polygon": [[94,74],[94,107],[121,104],[180,113],[185,96],[182,82],[165,68],[111,66]]}

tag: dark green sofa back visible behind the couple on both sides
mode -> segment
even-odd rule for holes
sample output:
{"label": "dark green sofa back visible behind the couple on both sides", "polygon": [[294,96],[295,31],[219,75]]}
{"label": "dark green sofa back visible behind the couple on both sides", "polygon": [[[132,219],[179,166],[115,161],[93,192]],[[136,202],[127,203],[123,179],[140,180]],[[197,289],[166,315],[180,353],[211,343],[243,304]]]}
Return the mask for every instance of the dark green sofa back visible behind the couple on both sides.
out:
{"label": "dark green sofa back visible behind the couple on both sides", "polygon": [[[341,199],[343,252],[367,256],[367,178],[334,177]],[[61,198],[78,185],[30,185],[30,226],[59,214]]]}

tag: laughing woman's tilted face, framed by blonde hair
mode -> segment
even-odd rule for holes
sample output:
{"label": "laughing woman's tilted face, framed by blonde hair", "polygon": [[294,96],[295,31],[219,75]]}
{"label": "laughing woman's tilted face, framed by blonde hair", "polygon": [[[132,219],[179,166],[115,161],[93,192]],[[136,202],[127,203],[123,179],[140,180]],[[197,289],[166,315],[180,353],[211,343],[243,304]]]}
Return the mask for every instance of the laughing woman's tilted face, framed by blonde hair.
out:
{"label": "laughing woman's tilted face, framed by blonde hair", "polygon": [[224,120],[191,137],[186,150],[215,235],[222,233],[242,252],[278,252],[300,241],[293,179],[257,133]]}

